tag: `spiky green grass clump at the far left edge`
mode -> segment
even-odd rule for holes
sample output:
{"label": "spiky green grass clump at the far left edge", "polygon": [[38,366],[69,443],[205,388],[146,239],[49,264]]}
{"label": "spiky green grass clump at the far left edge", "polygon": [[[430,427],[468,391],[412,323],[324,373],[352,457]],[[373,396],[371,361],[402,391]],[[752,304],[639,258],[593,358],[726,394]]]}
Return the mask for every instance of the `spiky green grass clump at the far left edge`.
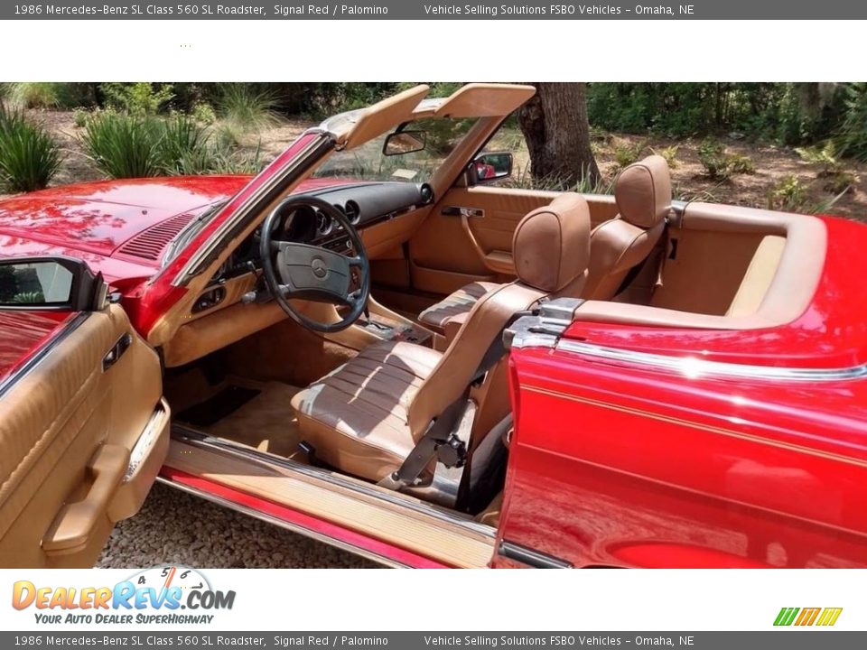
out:
{"label": "spiky green grass clump at the far left edge", "polygon": [[42,125],[0,104],[0,185],[11,191],[42,190],[61,160],[60,147]]}

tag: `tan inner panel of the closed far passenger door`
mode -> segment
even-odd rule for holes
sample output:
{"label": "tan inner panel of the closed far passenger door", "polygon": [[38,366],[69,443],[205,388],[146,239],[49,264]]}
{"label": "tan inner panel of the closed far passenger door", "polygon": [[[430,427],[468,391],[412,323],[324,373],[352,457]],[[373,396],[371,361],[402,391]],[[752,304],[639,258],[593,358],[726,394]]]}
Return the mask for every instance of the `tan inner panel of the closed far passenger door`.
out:
{"label": "tan inner panel of the closed far passenger door", "polygon": [[[420,291],[451,293],[472,282],[514,279],[512,237],[517,224],[558,194],[489,185],[452,188],[410,239],[413,285]],[[585,198],[594,226],[617,214],[613,197]]]}

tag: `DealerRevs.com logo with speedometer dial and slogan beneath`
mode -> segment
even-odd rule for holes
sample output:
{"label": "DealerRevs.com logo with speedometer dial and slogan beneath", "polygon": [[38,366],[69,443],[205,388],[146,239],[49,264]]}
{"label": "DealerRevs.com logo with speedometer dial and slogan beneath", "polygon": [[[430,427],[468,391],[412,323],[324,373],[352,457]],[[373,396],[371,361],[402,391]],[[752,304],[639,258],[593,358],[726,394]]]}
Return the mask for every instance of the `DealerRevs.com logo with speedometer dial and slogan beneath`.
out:
{"label": "DealerRevs.com logo with speedometer dial and slogan beneath", "polygon": [[146,569],[114,587],[47,587],[30,580],[13,585],[12,606],[33,608],[41,624],[209,624],[210,613],[231,609],[235,591],[214,590],[200,571],[183,566]]}

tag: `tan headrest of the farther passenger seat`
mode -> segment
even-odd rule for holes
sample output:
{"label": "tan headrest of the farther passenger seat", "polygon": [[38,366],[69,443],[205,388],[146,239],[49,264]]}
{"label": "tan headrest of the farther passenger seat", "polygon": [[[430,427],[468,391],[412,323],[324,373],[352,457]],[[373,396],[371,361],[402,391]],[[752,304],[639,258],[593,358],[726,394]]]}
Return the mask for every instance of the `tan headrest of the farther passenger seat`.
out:
{"label": "tan headrest of the farther passenger seat", "polygon": [[614,186],[620,218],[639,228],[653,228],[671,207],[671,174],[660,155],[630,164]]}

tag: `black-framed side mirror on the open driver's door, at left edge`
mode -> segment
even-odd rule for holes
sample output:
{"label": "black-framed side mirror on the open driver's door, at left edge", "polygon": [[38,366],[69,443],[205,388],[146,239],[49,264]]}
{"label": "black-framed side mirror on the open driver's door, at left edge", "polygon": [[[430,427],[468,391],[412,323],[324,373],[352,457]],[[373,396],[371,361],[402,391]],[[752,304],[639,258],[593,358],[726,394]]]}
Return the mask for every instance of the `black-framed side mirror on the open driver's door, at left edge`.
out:
{"label": "black-framed side mirror on the open driver's door, at left edge", "polygon": [[72,257],[0,257],[0,309],[92,311],[107,285]]}

